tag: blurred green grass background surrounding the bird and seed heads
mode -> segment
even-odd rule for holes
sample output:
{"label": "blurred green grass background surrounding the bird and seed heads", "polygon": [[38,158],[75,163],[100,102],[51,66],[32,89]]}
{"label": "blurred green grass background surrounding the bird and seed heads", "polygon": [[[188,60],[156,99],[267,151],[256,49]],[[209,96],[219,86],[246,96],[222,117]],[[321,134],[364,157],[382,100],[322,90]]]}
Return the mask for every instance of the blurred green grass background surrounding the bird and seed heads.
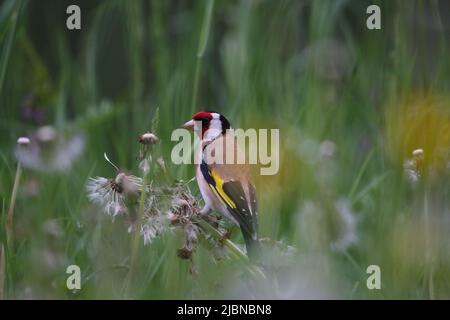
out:
{"label": "blurred green grass background surrounding the bird and seed heads", "polygon": [[[200,247],[191,274],[191,265],[176,256],[180,238],[164,236],[150,246],[141,243],[129,297],[449,298],[448,153],[444,169],[418,186],[406,179],[403,162],[414,148],[423,148],[426,157],[430,141],[418,139],[421,145],[415,146],[408,128],[431,137],[433,150],[436,144],[450,148],[444,138],[450,3],[217,0],[205,27],[208,3],[0,4],[3,244],[17,138],[52,125],[66,134],[83,133],[86,143],[64,173],[24,169],[15,240],[6,250],[5,269],[0,266],[5,297],[124,298],[131,236],[125,218],[111,223],[88,203],[86,180],[114,175],[104,152],[121,168],[138,172],[137,136],[149,129],[160,137],[158,152],[171,175],[190,179],[192,166],[167,160],[170,134],[195,111],[213,109],[234,127],[280,128],[280,172],[256,182],[261,236],[297,249],[287,279],[279,279],[279,292],[248,294],[239,285],[245,275],[238,264],[214,262]],[[382,30],[366,28],[372,3],[381,8]],[[81,8],[81,30],[66,28],[69,4]],[[30,95],[42,117],[24,115]],[[428,103],[423,97],[437,99],[433,119],[442,121],[405,125],[410,109],[403,102],[411,97],[419,117],[421,104]],[[397,148],[408,154],[393,154]],[[343,210],[355,230],[340,227]],[[356,239],[333,249],[345,232]],[[233,239],[242,241],[238,234]],[[82,270],[78,292],[65,286],[70,264]],[[372,264],[381,268],[381,290],[366,287]]]}

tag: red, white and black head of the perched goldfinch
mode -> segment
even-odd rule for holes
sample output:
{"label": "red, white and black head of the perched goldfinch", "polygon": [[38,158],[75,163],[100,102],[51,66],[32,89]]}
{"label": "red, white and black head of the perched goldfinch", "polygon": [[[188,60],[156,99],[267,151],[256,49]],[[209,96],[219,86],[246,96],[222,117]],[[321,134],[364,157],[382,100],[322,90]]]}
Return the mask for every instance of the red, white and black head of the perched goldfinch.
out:
{"label": "red, white and black head of the perched goldfinch", "polygon": [[217,112],[201,111],[194,114],[183,128],[198,130],[201,139],[212,139],[219,134],[225,134],[226,130],[230,129],[230,123]]}

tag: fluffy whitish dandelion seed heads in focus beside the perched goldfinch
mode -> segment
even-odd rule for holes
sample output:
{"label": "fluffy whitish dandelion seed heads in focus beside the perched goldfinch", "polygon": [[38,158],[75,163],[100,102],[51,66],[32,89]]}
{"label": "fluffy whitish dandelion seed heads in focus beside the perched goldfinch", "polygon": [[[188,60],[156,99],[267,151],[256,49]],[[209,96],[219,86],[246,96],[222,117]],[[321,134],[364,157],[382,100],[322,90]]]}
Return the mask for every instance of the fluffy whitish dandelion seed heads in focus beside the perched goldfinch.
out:
{"label": "fluffy whitish dandelion seed heads in focus beside the perched goldfinch", "polygon": [[[152,146],[158,141],[154,133],[147,132],[139,136],[138,167],[142,177],[120,170],[105,155],[105,159],[117,173],[112,178],[89,178],[86,184],[88,199],[112,218],[119,215],[131,216],[138,212],[129,231],[139,232],[144,245],[151,244],[164,234],[181,233],[183,244],[177,254],[182,259],[191,259],[200,237],[204,235],[198,224],[200,206],[189,189],[189,182],[176,181],[165,185],[156,178],[152,179],[156,175],[150,173],[167,173],[162,157],[152,161]],[[140,208],[143,193],[143,206]],[[218,241],[217,244],[219,245]]]}

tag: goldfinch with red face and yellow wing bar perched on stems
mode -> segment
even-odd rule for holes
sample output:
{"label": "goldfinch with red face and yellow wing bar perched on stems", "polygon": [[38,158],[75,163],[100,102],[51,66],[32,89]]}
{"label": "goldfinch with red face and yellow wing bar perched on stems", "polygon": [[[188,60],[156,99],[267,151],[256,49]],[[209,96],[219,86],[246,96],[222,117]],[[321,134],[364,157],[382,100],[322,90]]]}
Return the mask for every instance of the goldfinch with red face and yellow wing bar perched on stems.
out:
{"label": "goldfinch with red face and yellow wing bar perched on stems", "polygon": [[259,248],[256,189],[249,166],[236,163],[241,151],[228,130],[230,123],[217,112],[203,111],[182,127],[197,131],[201,141],[195,154],[195,175],[205,202],[201,213],[215,210],[238,225],[247,253],[253,257]]}

